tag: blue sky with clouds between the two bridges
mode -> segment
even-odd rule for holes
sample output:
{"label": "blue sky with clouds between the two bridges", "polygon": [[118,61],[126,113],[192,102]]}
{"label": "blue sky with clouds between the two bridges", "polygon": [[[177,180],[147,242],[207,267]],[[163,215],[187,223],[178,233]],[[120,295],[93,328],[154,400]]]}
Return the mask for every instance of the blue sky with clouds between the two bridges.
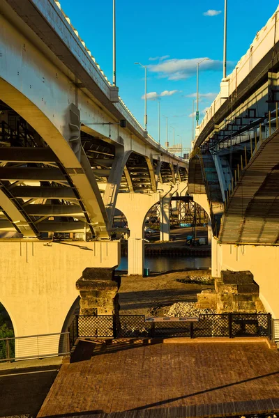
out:
{"label": "blue sky with clouds between the two bridges", "polygon": [[[60,0],[61,8],[112,82],[112,0]],[[278,6],[276,0],[227,0],[228,73],[246,53],[257,31]],[[147,91],[160,96],[161,144],[165,144],[165,116],[169,142],[175,128],[176,144],[189,147],[192,137],[193,98],[197,59],[200,65],[199,110],[213,101],[223,77],[224,0],[116,0],[116,84],[119,95],[144,123],[144,69],[150,65]],[[206,15],[208,10],[213,10]],[[152,60],[151,60],[152,59]],[[191,61],[193,60],[193,61]],[[158,103],[148,100],[148,131],[158,140]],[[202,116],[201,116],[202,118]],[[201,121],[201,119],[200,119]]]}

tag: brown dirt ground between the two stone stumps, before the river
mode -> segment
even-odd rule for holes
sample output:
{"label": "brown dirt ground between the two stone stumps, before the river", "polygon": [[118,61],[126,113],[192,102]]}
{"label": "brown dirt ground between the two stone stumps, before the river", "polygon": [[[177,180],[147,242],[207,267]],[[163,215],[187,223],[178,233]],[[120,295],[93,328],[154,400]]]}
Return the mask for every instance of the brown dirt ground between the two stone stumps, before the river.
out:
{"label": "brown dirt ground between the two stone stumps, before the river", "polygon": [[213,289],[212,284],[185,284],[177,279],[206,276],[210,270],[169,272],[149,277],[123,276],[119,289],[121,315],[162,316],[176,302],[197,302],[197,293]]}

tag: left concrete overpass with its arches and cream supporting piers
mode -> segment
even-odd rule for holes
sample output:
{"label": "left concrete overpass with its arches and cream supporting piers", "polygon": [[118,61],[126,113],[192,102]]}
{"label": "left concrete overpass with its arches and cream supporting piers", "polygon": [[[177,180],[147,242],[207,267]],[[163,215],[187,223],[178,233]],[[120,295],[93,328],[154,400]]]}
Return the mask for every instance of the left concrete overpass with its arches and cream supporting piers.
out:
{"label": "left concrete overpass with its arches and cream supporting piers", "polygon": [[142,274],[146,213],[161,202],[167,240],[187,185],[188,164],[138,123],[58,1],[0,2],[0,301],[16,336],[61,332],[84,268],[119,264],[116,207]]}

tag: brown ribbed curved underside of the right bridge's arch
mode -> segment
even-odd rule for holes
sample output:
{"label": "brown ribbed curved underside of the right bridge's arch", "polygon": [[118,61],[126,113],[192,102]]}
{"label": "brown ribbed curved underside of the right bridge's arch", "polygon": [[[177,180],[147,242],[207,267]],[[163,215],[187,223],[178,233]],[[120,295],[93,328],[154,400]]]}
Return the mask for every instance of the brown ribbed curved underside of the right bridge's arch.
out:
{"label": "brown ribbed curved underside of the right bridge's arch", "polygon": [[227,205],[221,242],[276,244],[279,241],[279,130],[252,158]]}

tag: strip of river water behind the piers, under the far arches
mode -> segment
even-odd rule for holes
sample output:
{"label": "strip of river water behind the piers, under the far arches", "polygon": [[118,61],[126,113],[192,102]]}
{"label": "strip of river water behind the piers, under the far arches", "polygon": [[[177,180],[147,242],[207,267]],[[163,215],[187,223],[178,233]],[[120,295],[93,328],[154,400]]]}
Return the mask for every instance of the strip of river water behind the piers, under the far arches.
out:
{"label": "strip of river water behind the piers, under the far arches", "polygon": [[[181,270],[183,268],[211,268],[211,257],[183,257],[183,256],[146,256],[144,268],[151,272],[165,272],[169,270]],[[117,270],[128,270],[127,256],[121,257],[121,263]]]}

